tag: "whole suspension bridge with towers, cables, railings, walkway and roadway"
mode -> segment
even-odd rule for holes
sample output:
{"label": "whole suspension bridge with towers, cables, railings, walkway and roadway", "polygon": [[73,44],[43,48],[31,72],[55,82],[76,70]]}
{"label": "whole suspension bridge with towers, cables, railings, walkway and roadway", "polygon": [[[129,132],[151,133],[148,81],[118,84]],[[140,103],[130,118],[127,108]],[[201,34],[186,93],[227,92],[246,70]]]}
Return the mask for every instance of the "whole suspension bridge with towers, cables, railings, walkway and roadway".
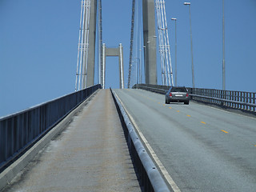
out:
{"label": "whole suspension bridge with towers, cables, railings, walkway and roadway", "polygon": [[[254,191],[256,93],[192,78],[190,105],[165,104],[174,75],[164,0],[132,1],[125,87],[122,43],[102,41],[102,9],[81,1],[75,92],[0,119],[0,190]],[[118,57],[120,89],[105,89],[106,57]]]}

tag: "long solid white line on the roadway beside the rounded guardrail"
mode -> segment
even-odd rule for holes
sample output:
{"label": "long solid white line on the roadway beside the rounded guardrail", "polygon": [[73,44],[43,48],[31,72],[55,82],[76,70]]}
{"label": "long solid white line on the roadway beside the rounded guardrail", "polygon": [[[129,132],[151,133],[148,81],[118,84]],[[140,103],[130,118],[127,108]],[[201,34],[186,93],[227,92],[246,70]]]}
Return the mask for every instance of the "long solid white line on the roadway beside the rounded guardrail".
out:
{"label": "long solid white line on the roadway beside the rounded guardrail", "polygon": [[[126,107],[123,105],[121,99],[118,97],[117,94],[115,94],[119,100],[119,102],[121,102],[124,110],[126,110]],[[160,171],[162,172],[162,175],[166,178],[166,181],[169,183],[169,185],[171,186],[171,188],[174,190],[174,192],[181,192],[181,190],[179,190],[178,186],[176,185],[176,183],[174,182],[173,178],[170,177],[170,174],[168,173],[168,171],[166,170],[166,168],[162,165],[162,162],[160,162],[158,156],[154,153],[154,150],[152,149],[152,147],[150,146],[150,143],[147,142],[146,138],[144,137],[144,135],[142,134],[142,131],[139,130],[138,125],[136,124],[136,122],[134,121],[134,118],[129,114],[129,112],[126,110],[126,114],[128,114],[130,121],[134,124],[135,129],[138,131],[139,136],[142,138],[142,141],[145,143],[146,148],[150,151],[151,156],[154,158],[154,162],[156,162],[158,164],[158,167],[160,169]]]}

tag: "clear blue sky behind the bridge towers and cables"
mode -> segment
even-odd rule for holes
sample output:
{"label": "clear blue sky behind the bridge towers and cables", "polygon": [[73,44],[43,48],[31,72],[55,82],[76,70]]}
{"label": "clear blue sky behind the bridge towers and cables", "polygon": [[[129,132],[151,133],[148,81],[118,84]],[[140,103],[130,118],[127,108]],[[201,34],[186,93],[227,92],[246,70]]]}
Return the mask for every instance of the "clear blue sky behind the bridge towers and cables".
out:
{"label": "clear blue sky behind the bridge towers and cables", "polygon": [[[178,85],[192,86],[189,10],[183,2],[166,0],[166,16],[173,66],[170,18],[178,19]],[[222,89],[222,0],[190,2],[195,86]],[[102,0],[103,42],[122,43],[125,80],[131,3]],[[80,5],[80,0],[0,0],[0,117],[74,91]],[[226,90],[256,92],[256,1],[225,1],[225,19]],[[161,84],[159,72],[158,58]],[[118,58],[107,58],[106,87],[118,85]]]}

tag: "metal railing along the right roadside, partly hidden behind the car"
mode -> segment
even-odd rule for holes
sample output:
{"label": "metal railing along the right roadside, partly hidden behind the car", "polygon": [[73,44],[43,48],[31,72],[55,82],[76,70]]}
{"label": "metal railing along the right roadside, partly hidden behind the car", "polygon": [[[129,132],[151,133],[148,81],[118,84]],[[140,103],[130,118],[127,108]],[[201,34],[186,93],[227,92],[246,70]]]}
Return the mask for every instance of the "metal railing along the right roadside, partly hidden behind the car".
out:
{"label": "metal railing along the right roadside, partly hidden behind the car", "polygon": [[[170,86],[150,84],[136,84],[134,89],[143,89],[166,94]],[[214,90],[187,87],[190,99],[198,102],[212,103],[218,106],[226,106],[234,109],[256,112],[256,93],[234,90]]]}

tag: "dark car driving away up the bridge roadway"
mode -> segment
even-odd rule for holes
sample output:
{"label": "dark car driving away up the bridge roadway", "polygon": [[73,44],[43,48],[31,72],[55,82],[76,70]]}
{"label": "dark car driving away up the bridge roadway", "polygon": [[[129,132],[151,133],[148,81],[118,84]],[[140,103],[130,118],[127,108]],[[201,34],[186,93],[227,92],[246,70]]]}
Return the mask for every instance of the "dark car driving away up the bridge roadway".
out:
{"label": "dark car driving away up the bridge roadway", "polygon": [[190,103],[189,91],[185,86],[170,86],[166,92],[166,104],[170,102],[184,102],[188,105]]}

